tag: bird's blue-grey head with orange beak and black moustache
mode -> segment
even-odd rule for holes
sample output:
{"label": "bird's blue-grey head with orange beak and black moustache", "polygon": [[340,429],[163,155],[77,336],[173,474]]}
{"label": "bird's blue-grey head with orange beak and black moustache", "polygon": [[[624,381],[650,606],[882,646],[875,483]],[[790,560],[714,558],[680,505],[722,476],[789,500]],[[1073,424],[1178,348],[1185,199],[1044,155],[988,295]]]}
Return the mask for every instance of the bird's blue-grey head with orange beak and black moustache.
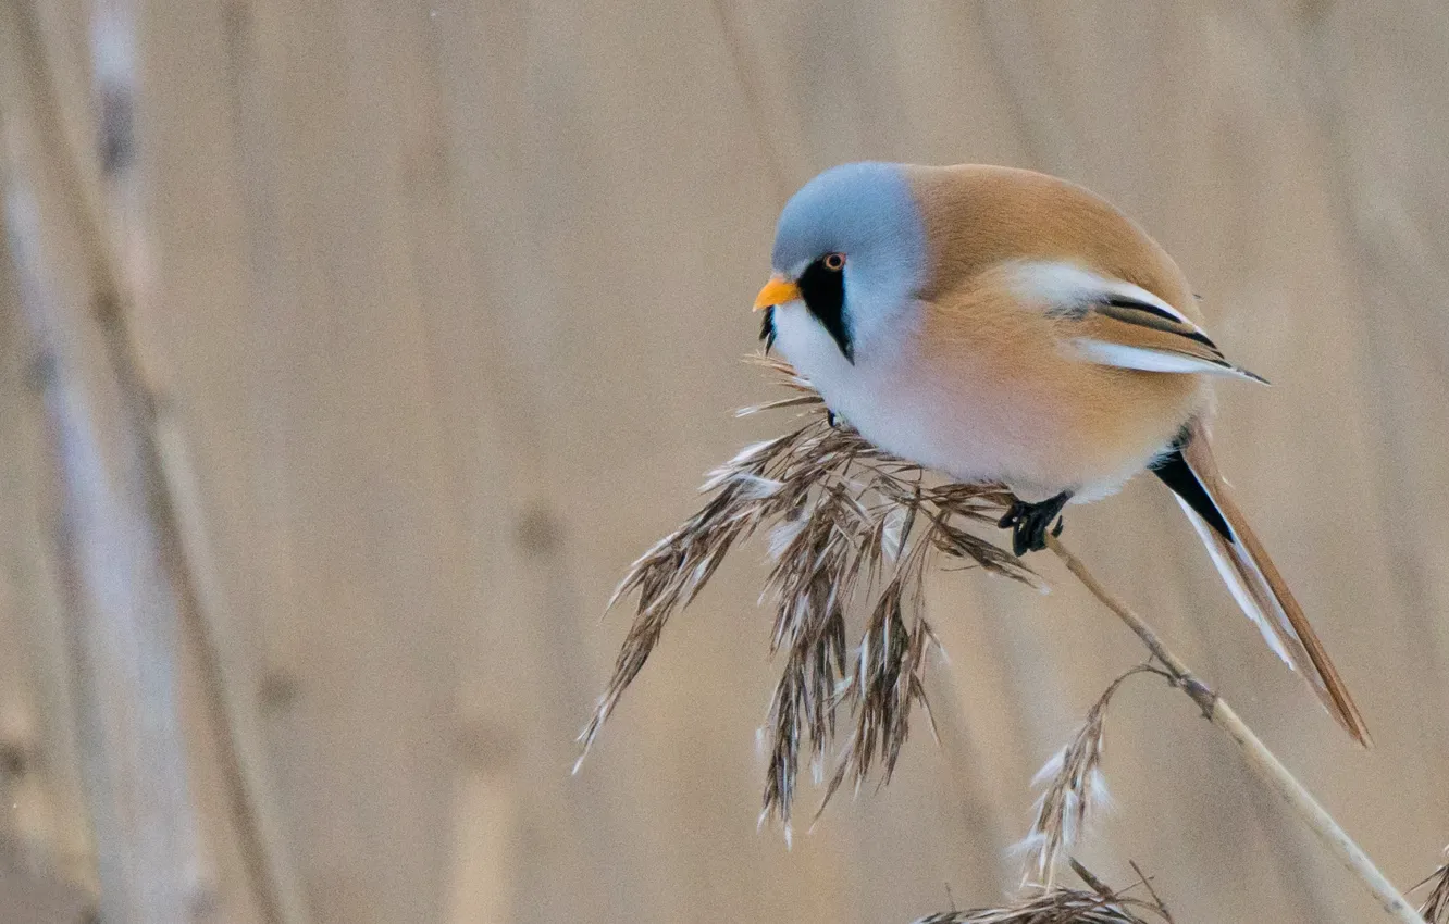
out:
{"label": "bird's blue-grey head with orange beak and black moustache", "polygon": [[906,310],[926,271],[926,229],[900,164],[843,164],[796,193],[780,213],[775,275],[756,308],[803,300],[855,362]]}

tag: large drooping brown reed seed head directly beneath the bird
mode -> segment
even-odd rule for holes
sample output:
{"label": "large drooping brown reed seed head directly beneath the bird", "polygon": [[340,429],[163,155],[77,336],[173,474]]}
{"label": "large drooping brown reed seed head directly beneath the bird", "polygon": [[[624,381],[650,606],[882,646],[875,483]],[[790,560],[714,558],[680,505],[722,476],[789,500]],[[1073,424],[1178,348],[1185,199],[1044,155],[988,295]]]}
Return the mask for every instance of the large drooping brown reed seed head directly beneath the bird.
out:
{"label": "large drooping brown reed seed head directly beneath the bird", "polygon": [[[774,814],[788,826],[801,755],[817,766],[833,756],[842,710],[853,721],[824,799],[849,778],[859,786],[875,766],[890,779],[911,708],[926,707],[926,662],[938,647],[922,607],[932,553],[1027,584],[1035,575],[965,529],[994,526],[1011,503],[1001,485],[932,482],[922,468],[832,421],[788,365],[759,362],[794,394],[740,413],[796,408],[804,423],[711,472],[700,510],[629,568],[610,605],[638,594],[635,620],[580,740],[587,753],[669,617],[694,600],[735,543],[767,530],[771,650],[784,669],[767,720],[762,818]],[[856,611],[865,624],[852,649]]]}

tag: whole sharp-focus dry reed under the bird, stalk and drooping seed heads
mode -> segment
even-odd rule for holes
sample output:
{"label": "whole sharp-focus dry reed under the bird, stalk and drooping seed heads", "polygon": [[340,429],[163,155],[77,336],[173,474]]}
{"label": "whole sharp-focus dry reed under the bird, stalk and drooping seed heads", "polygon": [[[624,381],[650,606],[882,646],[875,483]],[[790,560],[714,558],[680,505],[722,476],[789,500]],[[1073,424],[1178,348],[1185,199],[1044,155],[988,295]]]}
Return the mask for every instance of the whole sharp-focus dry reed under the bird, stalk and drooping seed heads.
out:
{"label": "whole sharp-focus dry reed under the bird, stalk and drooping seed heads", "polygon": [[[788,839],[803,757],[810,757],[817,778],[824,776],[826,760],[836,760],[823,810],[846,779],[858,789],[877,766],[882,782],[888,782],[909,734],[913,707],[920,705],[930,718],[924,675],[929,655],[939,646],[924,616],[923,579],[933,555],[1030,585],[1039,579],[1019,558],[966,529],[997,526],[1014,500],[1003,485],[932,481],[920,466],[882,452],[840,424],[810,382],[788,365],[767,358],[759,362],[794,394],[740,413],[798,408],[806,421],[784,436],[743,449],[716,469],[701,488],[709,497],[700,510],[629,568],[609,605],[638,594],[633,624],[580,742],[587,755],[669,617],[694,600],[729,550],[756,532],[768,532],[774,568],[762,597],[775,602],[771,653],[784,655],[784,669],[764,730],[768,770],[761,821],[778,817]],[[1027,859],[1023,885],[1035,881],[1039,891],[1007,908],[965,912],[966,917],[952,912],[956,917],[927,921],[1140,920],[1122,908],[1098,907],[1104,901],[1100,889],[1081,899],[1097,905],[1081,904],[1080,894],[1056,886],[1053,872],[1069,856],[1094,805],[1106,797],[1100,760],[1107,704],[1127,676],[1152,672],[1182,689],[1239,746],[1248,765],[1288,801],[1388,914],[1403,924],[1424,924],[1237,713],[1197,679],[1156,631],[1114,598],[1056,537],[1049,536],[1048,545],[1136,633],[1161,668],[1143,665],[1119,678],[1098,698],[1072,742],[1037,775],[1036,782],[1045,788],[1022,849]],[[848,640],[851,613],[865,614],[853,646]],[[836,753],[838,730],[843,744]],[[1077,870],[1091,882],[1084,870]],[[1058,899],[1065,905],[1052,904]]]}

